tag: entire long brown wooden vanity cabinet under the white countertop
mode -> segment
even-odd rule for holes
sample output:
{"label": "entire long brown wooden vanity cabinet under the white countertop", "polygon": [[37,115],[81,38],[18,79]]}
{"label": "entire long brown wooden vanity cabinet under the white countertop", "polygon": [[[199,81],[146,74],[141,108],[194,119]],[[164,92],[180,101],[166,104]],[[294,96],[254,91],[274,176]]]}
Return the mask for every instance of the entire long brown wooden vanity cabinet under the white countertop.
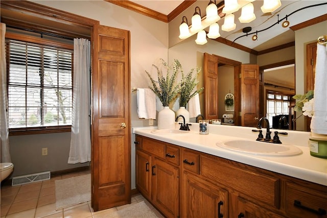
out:
{"label": "entire long brown wooden vanity cabinet under the white countertop", "polygon": [[[137,188],[168,217],[178,217],[179,212],[171,211],[180,208],[180,217],[327,218],[327,186],[143,136],[139,140]],[[166,159],[169,147],[170,155],[180,157],[179,164]],[[148,162],[159,175],[149,179],[150,191],[148,177],[139,177]]]}

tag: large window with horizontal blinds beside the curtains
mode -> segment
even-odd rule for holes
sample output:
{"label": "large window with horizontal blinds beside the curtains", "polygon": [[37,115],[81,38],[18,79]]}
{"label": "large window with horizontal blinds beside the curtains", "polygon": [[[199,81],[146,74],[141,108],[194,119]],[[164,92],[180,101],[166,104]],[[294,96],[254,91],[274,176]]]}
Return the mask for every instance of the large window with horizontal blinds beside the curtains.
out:
{"label": "large window with horizontal blinds beside the curtains", "polygon": [[6,40],[9,128],[72,125],[73,51]]}

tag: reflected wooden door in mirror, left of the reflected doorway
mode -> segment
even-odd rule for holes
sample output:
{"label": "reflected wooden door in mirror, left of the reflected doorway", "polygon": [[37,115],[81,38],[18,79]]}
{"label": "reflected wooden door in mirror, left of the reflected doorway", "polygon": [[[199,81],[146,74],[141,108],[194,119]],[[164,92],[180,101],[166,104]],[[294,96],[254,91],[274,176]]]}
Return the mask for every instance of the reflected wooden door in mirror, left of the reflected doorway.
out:
{"label": "reflected wooden door in mirror, left of the reflected doorway", "polygon": [[205,119],[218,119],[218,57],[204,53]]}

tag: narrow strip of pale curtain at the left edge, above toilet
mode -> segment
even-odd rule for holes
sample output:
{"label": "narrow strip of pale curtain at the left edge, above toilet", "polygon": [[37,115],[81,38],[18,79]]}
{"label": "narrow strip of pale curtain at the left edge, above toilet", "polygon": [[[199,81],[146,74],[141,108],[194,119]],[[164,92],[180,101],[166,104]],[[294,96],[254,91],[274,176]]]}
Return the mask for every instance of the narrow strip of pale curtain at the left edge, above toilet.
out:
{"label": "narrow strip of pale curtain at the left edge, above toilet", "polygon": [[0,98],[0,125],[1,125],[1,162],[11,162],[9,152],[8,127],[8,99],[7,99],[7,69],[6,69],[6,25],[1,23],[1,98]]}

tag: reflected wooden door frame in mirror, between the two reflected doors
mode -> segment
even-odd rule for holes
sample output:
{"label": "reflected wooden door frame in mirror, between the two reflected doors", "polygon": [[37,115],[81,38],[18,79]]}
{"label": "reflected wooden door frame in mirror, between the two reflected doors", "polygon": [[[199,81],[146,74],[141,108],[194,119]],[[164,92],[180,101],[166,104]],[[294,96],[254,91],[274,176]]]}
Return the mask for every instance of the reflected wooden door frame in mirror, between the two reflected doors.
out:
{"label": "reflected wooden door frame in mirror, between the two reflected doors", "polygon": [[[241,119],[239,116],[239,112],[241,111],[241,98],[240,98],[240,92],[241,92],[241,84],[240,84],[240,70],[241,70],[241,64],[240,61],[235,61],[232,59],[224,58],[218,55],[213,54],[218,58],[219,64],[227,64],[234,67],[234,99],[235,99],[235,118],[234,123],[236,126],[239,126],[241,124]],[[217,66],[218,67],[218,66]],[[219,74],[219,72],[218,72]]]}

